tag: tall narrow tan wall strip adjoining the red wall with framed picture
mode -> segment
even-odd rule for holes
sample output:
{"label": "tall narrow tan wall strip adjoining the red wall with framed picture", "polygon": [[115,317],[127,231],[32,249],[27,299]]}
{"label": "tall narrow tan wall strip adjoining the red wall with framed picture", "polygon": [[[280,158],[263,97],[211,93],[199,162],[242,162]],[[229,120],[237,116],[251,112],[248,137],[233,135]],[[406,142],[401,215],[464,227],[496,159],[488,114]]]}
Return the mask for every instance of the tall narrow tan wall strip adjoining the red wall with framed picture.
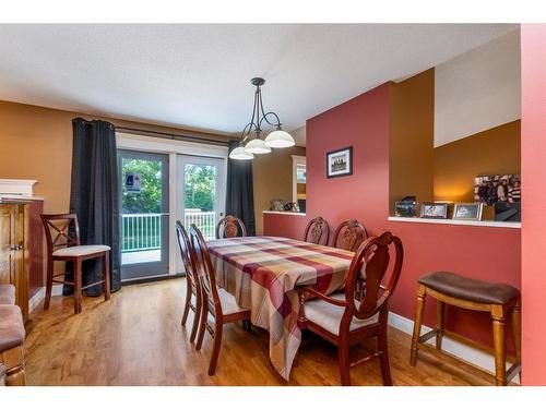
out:
{"label": "tall narrow tan wall strip adjoining the red wall with framed picture", "polygon": [[435,70],[390,87],[389,208],[406,195],[434,196]]}

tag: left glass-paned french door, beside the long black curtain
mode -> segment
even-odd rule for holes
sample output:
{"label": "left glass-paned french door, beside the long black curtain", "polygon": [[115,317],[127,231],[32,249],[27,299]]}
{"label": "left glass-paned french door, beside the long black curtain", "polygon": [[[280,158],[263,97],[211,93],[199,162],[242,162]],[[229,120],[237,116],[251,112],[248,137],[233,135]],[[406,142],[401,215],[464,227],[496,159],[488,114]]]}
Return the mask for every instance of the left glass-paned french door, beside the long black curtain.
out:
{"label": "left glass-paned french door, beside the long black curtain", "polygon": [[169,269],[169,156],[118,151],[121,279],[163,276]]}

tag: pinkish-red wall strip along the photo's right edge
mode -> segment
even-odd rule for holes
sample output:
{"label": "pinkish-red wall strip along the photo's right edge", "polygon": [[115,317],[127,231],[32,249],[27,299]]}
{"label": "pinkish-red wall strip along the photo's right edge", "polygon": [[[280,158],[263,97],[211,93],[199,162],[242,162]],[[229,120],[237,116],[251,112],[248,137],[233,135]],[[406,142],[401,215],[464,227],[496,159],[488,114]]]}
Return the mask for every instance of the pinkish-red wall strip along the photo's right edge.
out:
{"label": "pinkish-red wall strip along the photo's right edge", "polygon": [[546,25],[521,28],[524,385],[546,385]]}

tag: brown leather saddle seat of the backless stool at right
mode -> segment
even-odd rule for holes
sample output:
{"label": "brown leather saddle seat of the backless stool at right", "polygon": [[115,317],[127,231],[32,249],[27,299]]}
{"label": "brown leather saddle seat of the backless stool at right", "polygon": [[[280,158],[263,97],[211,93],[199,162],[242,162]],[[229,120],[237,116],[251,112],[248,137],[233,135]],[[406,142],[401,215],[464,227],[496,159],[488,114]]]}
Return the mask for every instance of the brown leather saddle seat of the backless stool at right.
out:
{"label": "brown leather saddle seat of the backless stool at right", "polygon": [[449,272],[429,273],[418,281],[442,294],[484,304],[502,305],[520,294],[517,288],[506,284],[476,280]]}

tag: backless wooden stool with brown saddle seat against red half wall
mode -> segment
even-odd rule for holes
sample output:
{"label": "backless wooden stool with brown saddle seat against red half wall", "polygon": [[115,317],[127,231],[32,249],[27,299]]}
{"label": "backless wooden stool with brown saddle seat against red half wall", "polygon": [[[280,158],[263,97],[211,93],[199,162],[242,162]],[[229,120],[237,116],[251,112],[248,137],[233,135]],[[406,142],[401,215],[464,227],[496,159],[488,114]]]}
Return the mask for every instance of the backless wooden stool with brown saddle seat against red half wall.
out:
{"label": "backless wooden stool with brown saddle seat against red half wall", "polygon": [[[425,299],[437,299],[436,328],[420,335]],[[444,334],[444,304],[474,311],[486,311],[492,318],[492,341],[495,352],[495,378],[498,386],[506,385],[513,376],[521,373],[521,298],[520,291],[509,285],[488,282],[460,276],[449,272],[427,274],[418,279],[417,306],[412,338],[410,363],[415,365],[419,344],[436,336],[436,349],[441,351]],[[515,362],[506,370],[505,323],[511,315],[515,347]]]}

